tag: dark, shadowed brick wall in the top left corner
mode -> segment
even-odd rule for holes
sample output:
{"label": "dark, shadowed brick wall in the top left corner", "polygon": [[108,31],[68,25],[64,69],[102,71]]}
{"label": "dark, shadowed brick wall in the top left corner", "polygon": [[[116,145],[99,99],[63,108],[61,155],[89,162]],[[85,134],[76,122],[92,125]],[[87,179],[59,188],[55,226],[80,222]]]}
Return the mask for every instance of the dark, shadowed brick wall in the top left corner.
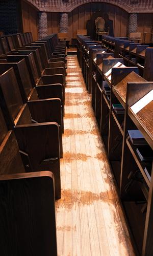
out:
{"label": "dark, shadowed brick wall in the top left corner", "polygon": [[0,1],[0,30],[5,34],[21,31],[20,3],[18,0]]}

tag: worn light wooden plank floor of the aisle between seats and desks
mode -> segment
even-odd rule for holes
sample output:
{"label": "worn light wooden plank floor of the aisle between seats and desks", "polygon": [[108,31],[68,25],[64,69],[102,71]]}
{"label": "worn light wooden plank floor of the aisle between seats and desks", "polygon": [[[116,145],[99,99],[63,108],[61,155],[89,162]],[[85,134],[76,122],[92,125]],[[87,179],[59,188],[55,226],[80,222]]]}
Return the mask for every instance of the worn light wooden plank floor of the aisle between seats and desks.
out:
{"label": "worn light wooden plank floor of the aisle between seats and desks", "polygon": [[66,84],[58,255],[134,255],[76,56],[68,56]]}

